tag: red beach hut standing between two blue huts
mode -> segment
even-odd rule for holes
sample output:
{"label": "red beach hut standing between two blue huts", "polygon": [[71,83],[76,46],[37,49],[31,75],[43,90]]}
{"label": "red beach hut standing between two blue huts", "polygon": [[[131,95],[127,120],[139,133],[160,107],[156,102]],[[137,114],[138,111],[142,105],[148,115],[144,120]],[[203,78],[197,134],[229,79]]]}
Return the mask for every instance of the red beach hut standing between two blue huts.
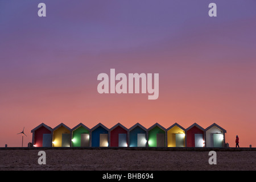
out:
{"label": "red beach hut standing between two blue huts", "polygon": [[117,123],[110,130],[110,147],[127,147],[128,146],[128,129]]}

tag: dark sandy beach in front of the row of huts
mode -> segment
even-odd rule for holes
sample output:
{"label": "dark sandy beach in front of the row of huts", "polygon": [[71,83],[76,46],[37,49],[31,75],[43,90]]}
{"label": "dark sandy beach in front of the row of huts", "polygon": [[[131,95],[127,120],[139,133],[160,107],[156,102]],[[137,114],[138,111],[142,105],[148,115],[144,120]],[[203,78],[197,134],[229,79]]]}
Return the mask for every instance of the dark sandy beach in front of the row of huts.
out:
{"label": "dark sandy beach in front of the row of huts", "polygon": [[209,151],[150,150],[44,150],[46,165],[39,165],[40,150],[0,150],[0,170],[256,170],[256,151],[216,151],[210,165]]}

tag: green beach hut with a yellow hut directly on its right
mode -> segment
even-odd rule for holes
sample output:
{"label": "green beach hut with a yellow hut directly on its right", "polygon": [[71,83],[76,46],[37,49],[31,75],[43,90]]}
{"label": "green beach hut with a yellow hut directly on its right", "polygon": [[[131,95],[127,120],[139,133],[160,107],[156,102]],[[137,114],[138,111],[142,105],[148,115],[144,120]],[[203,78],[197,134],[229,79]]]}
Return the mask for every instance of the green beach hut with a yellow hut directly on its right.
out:
{"label": "green beach hut with a yellow hut directly on its right", "polygon": [[155,123],[147,129],[148,147],[165,147],[166,146],[166,129]]}

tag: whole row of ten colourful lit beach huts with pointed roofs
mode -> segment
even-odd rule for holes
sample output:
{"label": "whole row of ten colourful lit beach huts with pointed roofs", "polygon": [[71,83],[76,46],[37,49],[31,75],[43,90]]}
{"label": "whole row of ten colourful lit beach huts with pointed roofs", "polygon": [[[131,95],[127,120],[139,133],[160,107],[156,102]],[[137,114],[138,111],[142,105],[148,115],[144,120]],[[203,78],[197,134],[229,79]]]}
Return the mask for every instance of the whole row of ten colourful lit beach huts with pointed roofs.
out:
{"label": "whole row of ten colourful lit beach huts with pointed roofs", "polygon": [[64,123],[53,129],[44,123],[31,130],[34,147],[226,147],[222,127],[206,129],[197,123],[184,129],[177,123],[165,129],[159,123],[146,129],[137,123],[127,129],[121,123],[108,129],[102,123],[89,129],[84,124],[70,129]]}

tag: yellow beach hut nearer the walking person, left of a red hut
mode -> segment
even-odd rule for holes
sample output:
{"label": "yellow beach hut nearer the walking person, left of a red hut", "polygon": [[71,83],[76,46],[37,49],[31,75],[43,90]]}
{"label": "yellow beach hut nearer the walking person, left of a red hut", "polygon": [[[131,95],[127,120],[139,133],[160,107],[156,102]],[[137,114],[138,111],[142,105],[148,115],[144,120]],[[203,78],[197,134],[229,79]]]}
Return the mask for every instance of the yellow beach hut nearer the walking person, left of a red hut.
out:
{"label": "yellow beach hut nearer the walking person, left of a red hut", "polygon": [[167,147],[185,147],[185,129],[177,123],[166,129]]}

